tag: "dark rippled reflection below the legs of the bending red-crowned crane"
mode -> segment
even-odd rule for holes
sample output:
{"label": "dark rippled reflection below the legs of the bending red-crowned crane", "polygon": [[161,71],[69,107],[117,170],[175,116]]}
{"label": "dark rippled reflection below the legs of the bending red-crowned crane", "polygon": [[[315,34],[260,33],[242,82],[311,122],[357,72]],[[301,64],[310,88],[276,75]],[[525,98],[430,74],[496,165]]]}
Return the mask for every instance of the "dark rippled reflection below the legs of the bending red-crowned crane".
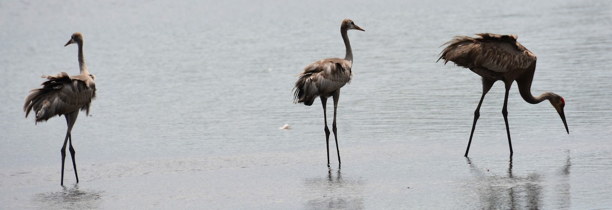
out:
{"label": "dark rippled reflection below the legs of the bending red-crowned crane", "polygon": [[485,175],[482,170],[466,157],[472,172],[477,179],[469,181],[469,188],[475,188],[479,197],[479,208],[484,209],[540,209],[542,206],[542,191],[540,185],[542,176],[530,173],[527,176],[517,176],[512,173],[512,157],[508,163],[507,175]]}

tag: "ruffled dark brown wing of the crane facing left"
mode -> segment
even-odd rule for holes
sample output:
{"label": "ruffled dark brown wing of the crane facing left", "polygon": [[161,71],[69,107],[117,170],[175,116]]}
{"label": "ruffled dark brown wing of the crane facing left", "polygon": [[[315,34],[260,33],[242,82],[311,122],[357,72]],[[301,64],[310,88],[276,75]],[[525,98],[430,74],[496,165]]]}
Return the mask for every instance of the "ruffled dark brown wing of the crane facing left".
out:
{"label": "ruffled dark brown wing of the crane facing left", "polygon": [[68,114],[81,109],[89,114],[91,101],[95,98],[95,83],[92,76],[69,76],[62,72],[49,79],[43,87],[34,89],[26,98],[23,110],[28,117],[33,109],[36,121],[48,120],[54,115]]}

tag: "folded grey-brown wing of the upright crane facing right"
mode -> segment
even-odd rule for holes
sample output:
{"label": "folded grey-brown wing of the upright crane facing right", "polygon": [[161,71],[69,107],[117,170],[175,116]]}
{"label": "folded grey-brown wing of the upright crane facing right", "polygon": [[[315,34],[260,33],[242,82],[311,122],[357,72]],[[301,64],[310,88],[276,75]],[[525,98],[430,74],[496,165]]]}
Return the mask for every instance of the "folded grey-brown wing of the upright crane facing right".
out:
{"label": "folded grey-brown wing of the upright crane facing right", "polygon": [[352,63],[344,59],[323,59],[310,63],[299,74],[294,101],[312,104],[317,95],[334,92],[351,81]]}

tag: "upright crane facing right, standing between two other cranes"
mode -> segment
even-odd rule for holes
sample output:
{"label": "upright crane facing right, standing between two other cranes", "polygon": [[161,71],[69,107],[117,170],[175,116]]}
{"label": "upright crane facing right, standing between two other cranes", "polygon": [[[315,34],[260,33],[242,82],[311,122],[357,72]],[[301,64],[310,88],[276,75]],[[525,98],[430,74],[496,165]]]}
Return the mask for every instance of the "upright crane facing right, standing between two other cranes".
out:
{"label": "upright crane facing right, standing between two other cranes", "polygon": [[332,123],[332,130],[334,131],[334,138],[336,140],[338,164],[340,164],[340,149],[338,149],[338,136],[336,134],[336,110],[338,108],[340,88],[350,82],[351,77],[353,77],[353,71],[351,71],[351,66],[353,65],[353,50],[351,49],[351,43],[346,34],[350,29],[365,31],[354,24],[352,20],[345,19],[342,21],[340,25],[340,34],[345,42],[345,58],[323,59],[310,63],[304,68],[304,71],[299,74],[300,78],[297,79],[296,87],[294,87],[294,103],[304,103],[306,106],[310,106],[315,101],[316,96],[321,98],[321,104],[323,104],[323,117],[325,118],[327,167],[329,167],[329,128],[327,128],[326,104],[327,98],[330,96],[334,98],[334,123]]}

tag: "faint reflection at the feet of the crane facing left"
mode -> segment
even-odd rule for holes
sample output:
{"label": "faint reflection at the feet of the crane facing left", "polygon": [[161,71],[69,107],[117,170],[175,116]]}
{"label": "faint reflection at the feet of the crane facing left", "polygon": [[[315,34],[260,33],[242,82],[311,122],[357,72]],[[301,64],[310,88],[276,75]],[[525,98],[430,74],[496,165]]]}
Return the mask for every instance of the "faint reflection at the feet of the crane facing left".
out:
{"label": "faint reflection at the feet of the crane facing left", "polygon": [[102,201],[102,191],[84,190],[75,184],[73,187],[62,187],[59,192],[47,192],[35,195],[40,209],[97,209]]}

